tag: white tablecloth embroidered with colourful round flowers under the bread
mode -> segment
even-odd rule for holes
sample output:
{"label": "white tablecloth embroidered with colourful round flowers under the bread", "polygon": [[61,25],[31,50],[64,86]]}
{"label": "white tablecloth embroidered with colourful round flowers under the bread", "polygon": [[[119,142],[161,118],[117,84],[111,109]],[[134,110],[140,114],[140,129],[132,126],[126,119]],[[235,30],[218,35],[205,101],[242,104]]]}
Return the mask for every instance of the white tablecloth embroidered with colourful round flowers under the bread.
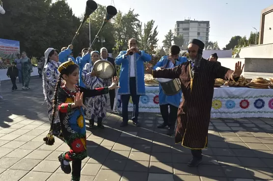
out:
{"label": "white tablecloth embroidered with colourful round flowers under the bread", "polygon": [[[145,87],[145,89],[146,95],[140,96],[139,112],[160,113],[159,87]],[[116,111],[121,113],[120,95],[116,97]],[[128,111],[133,111],[132,103],[130,98]],[[273,89],[215,88],[211,117],[273,117]]]}

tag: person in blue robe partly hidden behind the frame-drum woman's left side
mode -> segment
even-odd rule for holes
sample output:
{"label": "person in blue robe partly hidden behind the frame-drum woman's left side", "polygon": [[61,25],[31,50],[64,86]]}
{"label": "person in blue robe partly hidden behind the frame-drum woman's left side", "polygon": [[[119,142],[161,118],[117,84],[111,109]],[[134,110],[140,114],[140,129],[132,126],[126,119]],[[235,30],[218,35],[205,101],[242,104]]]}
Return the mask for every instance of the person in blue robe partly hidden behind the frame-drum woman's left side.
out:
{"label": "person in blue robe partly hidden behind the frame-drum woman's left side", "polygon": [[79,65],[79,86],[85,88],[85,84],[82,82],[82,68],[84,68],[85,64],[90,63],[91,60],[91,51],[92,48],[83,48],[82,49],[82,57],[77,57],[76,62]]}

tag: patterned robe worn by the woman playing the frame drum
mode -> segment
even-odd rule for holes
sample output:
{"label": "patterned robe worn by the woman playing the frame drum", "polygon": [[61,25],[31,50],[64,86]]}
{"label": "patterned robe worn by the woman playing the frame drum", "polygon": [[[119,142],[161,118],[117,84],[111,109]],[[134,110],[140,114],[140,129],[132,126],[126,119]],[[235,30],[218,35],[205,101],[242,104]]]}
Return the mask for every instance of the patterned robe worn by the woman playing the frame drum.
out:
{"label": "patterned robe worn by the woman playing the frame drum", "polygon": [[[93,70],[92,64],[86,64],[82,69],[82,81],[87,89],[96,89],[110,86],[111,79],[102,79],[97,76],[91,76]],[[86,117],[87,119],[94,119],[98,116],[98,121],[106,116],[107,113],[107,96],[106,94],[94,97],[87,97],[85,99]]]}

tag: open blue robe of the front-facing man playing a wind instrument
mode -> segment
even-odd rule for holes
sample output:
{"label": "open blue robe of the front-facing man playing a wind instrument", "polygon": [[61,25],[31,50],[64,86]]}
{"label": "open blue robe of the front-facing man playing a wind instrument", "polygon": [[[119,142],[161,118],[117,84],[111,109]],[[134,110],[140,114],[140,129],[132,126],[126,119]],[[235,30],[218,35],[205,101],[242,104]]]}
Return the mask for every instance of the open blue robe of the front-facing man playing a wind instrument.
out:
{"label": "open blue robe of the front-facing man playing a wind instrument", "polygon": [[[138,53],[134,53],[135,60],[135,73],[136,73],[136,94],[137,95],[145,95],[145,84],[144,84],[144,62],[151,61],[151,56],[144,51],[140,51],[140,55]],[[119,73],[119,86],[118,94],[130,94],[129,80],[130,80],[130,57],[128,55],[125,58],[125,54],[127,51],[121,51],[119,55],[115,59],[116,65],[121,65],[120,73]]]}

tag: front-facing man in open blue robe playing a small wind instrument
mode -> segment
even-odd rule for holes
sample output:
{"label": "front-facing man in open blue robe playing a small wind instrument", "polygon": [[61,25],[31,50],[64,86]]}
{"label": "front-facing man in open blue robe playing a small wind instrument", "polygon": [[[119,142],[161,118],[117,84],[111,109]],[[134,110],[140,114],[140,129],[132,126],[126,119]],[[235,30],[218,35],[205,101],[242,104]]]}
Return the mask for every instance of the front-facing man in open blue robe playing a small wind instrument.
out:
{"label": "front-facing man in open blue robe playing a small wind instrument", "polygon": [[132,120],[136,126],[139,126],[137,121],[139,97],[140,95],[145,95],[143,63],[149,62],[152,59],[149,54],[137,49],[135,38],[131,38],[128,44],[129,49],[127,51],[121,51],[115,59],[116,65],[121,65],[118,94],[121,95],[123,121],[120,127],[128,125],[128,104],[130,96],[132,96],[133,101]]}

